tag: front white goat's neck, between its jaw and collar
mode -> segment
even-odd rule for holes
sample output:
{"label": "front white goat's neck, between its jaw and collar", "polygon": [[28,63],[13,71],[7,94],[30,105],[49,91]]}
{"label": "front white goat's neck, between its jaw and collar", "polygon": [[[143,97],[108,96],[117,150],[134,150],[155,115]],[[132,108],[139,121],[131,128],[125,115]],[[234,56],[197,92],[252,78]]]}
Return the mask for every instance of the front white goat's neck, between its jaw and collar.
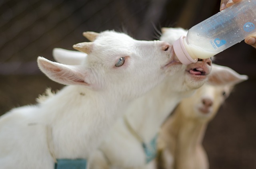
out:
{"label": "front white goat's neck, between its jaw and collar", "polygon": [[[109,105],[111,101],[119,106]],[[124,102],[118,102],[111,93],[103,94],[75,85],[66,86],[43,102],[40,105],[43,108],[42,113],[47,110],[48,114],[47,121],[44,117],[43,123],[52,128],[56,157],[61,158],[58,156],[61,154],[65,158],[74,158],[71,152],[76,152],[79,157],[88,158],[89,153],[98,147],[98,140],[101,140],[99,138],[104,137],[118,118],[118,114],[113,112],[117,112],[124,105]],[[75,132],[70,128],[75,128]],[[72,146],[66,146],[70,142],[73,143]]]}

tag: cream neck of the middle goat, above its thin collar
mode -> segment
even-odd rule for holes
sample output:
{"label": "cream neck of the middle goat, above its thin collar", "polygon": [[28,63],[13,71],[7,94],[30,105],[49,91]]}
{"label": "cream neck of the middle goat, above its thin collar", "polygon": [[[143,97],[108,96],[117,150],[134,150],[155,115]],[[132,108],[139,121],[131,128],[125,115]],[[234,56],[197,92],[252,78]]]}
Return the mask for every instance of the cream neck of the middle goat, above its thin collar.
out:
{"label": "cream neck of the middle goat, above its thin collar", "polygon": [[126,110],[130,126],[146,143],[156,136],[160,126],[180,100],[194,92],[181,92],[175,84],[170,85],[172,83],[169,81],[174,79],[167,78],[144,96],[132,101]]}

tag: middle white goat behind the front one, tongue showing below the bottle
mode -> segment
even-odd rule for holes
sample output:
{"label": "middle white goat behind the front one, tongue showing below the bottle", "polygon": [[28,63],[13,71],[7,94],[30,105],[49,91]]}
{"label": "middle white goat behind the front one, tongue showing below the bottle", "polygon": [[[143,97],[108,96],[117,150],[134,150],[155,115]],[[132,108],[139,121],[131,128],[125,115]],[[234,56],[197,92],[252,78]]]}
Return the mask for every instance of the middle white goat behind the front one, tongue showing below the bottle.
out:
{"label": "middle white goat behind the front one, tongue showing below the bottle", "polygon": [[[182,30],[182,33],[172,31],[172,38],[168,43],[186,33]],[[69,51],[66,52],[68,54]],[[60,57],[62,49],[55,49],[54,55]],[[182,98],[191,95],[194,89],[202,86],[207,80],[206,75],[210,73],[211,61],[200,60],[188,66],[177,63],[176,67],[178,71],[173,71],[163,83],[132,101],[127,109],[121,110],[126,112],[125,117],[118,120],[106,136],[99,151],[89,161],[90,168],[150,167],[150,164],[146,166],[146,163],[155,157],[156,148],[150,152],[149,145],[154,144],[160,126],[176,104]]]}

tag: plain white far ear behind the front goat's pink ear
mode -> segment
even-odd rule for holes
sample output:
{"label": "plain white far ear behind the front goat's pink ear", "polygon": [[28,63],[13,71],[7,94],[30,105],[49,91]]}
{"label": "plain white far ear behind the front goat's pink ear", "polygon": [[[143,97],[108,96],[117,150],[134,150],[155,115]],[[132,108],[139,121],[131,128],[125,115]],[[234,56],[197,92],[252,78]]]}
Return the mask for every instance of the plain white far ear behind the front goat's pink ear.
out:
{"label": "plain white far ear behind the front goat's pink ear", "polygon": [[80,51],[70,51],[61,48],[54,48],[52,55],[55,61],[65,65],[81,65],[87,56],[86,53]]}

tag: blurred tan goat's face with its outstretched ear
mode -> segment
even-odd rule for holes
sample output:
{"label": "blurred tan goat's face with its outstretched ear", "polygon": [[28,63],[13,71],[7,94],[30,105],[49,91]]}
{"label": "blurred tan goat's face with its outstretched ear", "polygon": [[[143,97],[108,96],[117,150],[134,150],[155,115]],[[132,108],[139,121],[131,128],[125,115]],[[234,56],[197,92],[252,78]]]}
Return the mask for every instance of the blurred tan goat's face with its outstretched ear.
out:
{"label": "blurred tan goat's face with its outstretched ear", "polygon": [[234,85],[246,79],[246,75],[240,75],[229,67],[212,65],[207,82],[180,103],[184,116],[204,121],[211,120]]}

